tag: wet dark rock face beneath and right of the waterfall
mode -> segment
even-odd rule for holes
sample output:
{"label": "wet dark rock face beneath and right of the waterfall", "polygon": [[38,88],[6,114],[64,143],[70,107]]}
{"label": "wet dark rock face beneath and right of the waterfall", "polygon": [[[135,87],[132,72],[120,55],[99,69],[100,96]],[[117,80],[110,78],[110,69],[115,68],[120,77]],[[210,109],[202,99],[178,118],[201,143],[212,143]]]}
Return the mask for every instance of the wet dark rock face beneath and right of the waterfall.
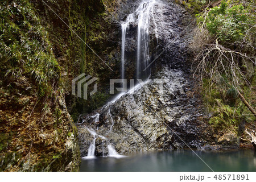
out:
{"label": "wet dark rock face beneath and right of the waterfall", "polygon": [[[151,65],[151,81],[138,86],[134,93],[123,94],[82,117],[83,123],[79,124],[81,156],[88,155],[94,138],[86,128],[105,137],[96,135],[95,154],[99,156],[108,155],[108,144],[118,154],[238,146],[236,134],[214,135],[212,128],[203,121],[206,116],[189,65],[192,55],[188,44],[192,40],[193,24],[187,26],[192,22],[191,16],[178,5],[163,1],[155,5],[154,17],[157,34],[152,26],[149,32],[150,60],[160,56]],[[126,78],[134,78],[136,35],[137,24],[130,24],[125,45]],[[97,113],[98,119],[95,119]]]}

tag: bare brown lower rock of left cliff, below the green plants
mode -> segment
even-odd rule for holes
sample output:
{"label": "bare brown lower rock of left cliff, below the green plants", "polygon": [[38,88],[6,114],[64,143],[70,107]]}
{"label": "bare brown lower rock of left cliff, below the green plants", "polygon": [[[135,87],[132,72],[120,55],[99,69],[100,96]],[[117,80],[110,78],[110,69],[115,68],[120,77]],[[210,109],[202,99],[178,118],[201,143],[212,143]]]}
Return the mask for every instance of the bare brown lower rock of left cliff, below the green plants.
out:
{"label": "bare brown lower rock of left cliff, below the green plants", "polygon": [[42,112],[27,79],[12,82],[15,92],[0,89],[1,171],[78,171],[77,129],[63,95],[53,93],[47,103],[54,109]]}

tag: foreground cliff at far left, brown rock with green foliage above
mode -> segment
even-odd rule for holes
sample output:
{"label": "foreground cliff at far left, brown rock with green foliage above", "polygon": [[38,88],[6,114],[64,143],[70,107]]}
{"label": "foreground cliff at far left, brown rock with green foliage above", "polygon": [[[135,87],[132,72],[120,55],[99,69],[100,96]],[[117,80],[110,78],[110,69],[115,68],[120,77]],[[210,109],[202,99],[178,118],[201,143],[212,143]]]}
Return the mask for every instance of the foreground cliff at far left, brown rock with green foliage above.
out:
{"label": "foreground cliff at far left, brown rock with green foliage above", "polygon": [[0,171],[79,171],[77,129],[60,84],[65,68],[56,61],[61,37],[49,38],[60,20],[42,4],[1,1]]}

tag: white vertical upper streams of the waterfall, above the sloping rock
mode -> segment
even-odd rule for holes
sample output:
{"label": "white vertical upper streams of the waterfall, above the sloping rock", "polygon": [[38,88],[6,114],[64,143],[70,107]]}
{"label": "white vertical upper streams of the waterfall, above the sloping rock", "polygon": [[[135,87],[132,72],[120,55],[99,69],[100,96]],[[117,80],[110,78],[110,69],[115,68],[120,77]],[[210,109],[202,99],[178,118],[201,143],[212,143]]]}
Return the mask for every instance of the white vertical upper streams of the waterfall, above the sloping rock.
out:
{"label": "white vertical upper streams of the waterfall, above the sloping rock", "polygon": [[134,13],[129,14],[125,22],[121,23],[122,27],[122,52],[121,52],[121,78],[125,78],[125,39],[126,30],[130,23],[137,23],[137,67],[136,67],[136,78],[148,77],[150,71],[147,68],[150,60],[150,53],[148,48],[149,43],[149,27],[150,19],[154,23],[155,35],[157,38],[157,28],[154,18],[154,6],[156,0],[144,0],[140,3],[137,10]]}

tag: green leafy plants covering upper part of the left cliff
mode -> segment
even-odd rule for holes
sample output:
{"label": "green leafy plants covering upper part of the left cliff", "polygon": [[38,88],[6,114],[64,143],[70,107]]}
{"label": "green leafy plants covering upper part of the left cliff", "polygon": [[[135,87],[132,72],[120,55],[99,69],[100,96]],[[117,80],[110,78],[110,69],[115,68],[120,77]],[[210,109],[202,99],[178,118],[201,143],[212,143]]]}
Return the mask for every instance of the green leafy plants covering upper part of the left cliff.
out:
{"label": "green leafy plants covering upper part of the left cliff", "polygon": [[4,1],[0,18],[1,77],[32,76],[43,97],[46,84],[60,77],[48,32],[27,0]]}

